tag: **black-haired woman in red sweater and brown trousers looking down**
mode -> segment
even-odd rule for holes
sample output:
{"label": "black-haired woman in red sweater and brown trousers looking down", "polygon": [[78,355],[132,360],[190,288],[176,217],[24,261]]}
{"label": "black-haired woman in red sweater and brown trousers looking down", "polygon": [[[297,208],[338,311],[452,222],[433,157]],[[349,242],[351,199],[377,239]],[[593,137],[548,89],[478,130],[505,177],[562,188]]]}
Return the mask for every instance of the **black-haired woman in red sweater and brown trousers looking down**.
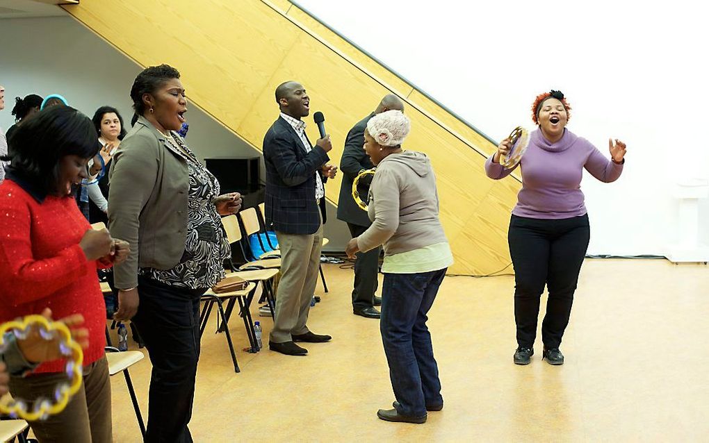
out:
{"label": "black-haired woman in red sweater and brown trousers looking down", "polygon": [[[70,194],[100,147],[88,117],[68,106],[48,108],[13,135],[0,184],[0,322],[48,307],[58,318],[82,314],[89,330],[82,389],[62,413],[30,423],[40,442],[111,442],[106,308],[96,268],[123,261],[128,243],[91,230]],[[64,366],[50,361],[13,376],[10,392],[30,402],[52,398],[66,379]]]}

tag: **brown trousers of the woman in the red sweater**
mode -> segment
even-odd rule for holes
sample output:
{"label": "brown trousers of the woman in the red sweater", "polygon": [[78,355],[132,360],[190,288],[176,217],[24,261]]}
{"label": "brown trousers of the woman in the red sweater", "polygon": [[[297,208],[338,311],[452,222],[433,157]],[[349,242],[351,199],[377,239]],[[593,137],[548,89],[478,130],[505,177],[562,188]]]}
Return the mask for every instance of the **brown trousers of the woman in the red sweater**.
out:
{"label": "brown trousers of the woman in the red sweater", "polygon": [[[11,377],[10,393],[28,401],[53,398],[57,384],[66,380],[66,374]],[[65,410],[47,420],[30,422],[30,427],[40,443],[111,443],[111,381],[106,357],[84,366],[84,383]]]}

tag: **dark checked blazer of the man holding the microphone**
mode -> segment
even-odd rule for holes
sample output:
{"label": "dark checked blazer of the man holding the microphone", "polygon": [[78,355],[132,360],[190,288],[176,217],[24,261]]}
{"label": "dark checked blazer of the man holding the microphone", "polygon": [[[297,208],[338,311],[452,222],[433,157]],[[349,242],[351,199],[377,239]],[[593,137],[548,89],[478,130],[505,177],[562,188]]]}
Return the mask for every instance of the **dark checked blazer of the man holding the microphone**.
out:
{"label": "dark checked blazer of the man holding the microphone", "polygon": [[[314,234],[325,223],[325,198],[315,199],[316,175],[330,157],[319,146],[306,152],[296,130],[279,117],[264,137],[266,223],[286,234]],[[320,211],[320,214],[318,214]]]}

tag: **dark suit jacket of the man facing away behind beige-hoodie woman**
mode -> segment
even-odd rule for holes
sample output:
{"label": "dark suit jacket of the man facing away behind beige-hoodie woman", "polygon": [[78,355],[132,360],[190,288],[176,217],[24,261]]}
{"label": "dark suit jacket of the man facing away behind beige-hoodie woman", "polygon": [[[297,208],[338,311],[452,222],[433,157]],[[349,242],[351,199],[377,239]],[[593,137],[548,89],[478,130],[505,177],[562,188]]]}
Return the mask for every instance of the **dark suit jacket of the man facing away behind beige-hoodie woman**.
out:
{"label": "dark suit jacket of the man facing away behind beige-hoodie woman", "polygon": [[[367,216],[367,211],[354,203],[352,198],[352,182],[362,169],[372,169],[374,164],[369,159],[369,155],[364,152],[364,130],[367,129],[367,122],[374,117],[374,113],[360,120],[350,132],[345,140],[345,150],[342,151],[340,159],[340,171],[342,171],[342,183],[340,184],[340,199],[337,201],[337,218],[347,223],[359,226],[369,226],[372,224]],[[369,178],[369,180],[367,180]],[[371,177],[363,177],[359,181],[359,196],[367,198],[369,194],[369,183]]]}

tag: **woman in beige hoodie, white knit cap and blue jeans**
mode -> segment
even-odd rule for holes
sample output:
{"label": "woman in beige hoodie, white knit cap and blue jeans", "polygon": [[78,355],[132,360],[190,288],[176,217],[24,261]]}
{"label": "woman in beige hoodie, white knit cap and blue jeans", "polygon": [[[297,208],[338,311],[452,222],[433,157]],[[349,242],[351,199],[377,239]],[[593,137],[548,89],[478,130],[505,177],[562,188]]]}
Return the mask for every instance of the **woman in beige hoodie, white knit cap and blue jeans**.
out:
{"label": "woman in beige hoodie, white knit cap and blue jeans", "polygon": [[381,340],[396,401],[393,409],[380,409],[377,415],[423,423],[427,410],[443,408],[426,320],[453,257],[438,219],[430,160],[401,149],[409,128],[401,111],[377,114],[367,123],[364,150],[376,165],[369,189],[372,226],[350,240],[347,255],[384,245]]}

